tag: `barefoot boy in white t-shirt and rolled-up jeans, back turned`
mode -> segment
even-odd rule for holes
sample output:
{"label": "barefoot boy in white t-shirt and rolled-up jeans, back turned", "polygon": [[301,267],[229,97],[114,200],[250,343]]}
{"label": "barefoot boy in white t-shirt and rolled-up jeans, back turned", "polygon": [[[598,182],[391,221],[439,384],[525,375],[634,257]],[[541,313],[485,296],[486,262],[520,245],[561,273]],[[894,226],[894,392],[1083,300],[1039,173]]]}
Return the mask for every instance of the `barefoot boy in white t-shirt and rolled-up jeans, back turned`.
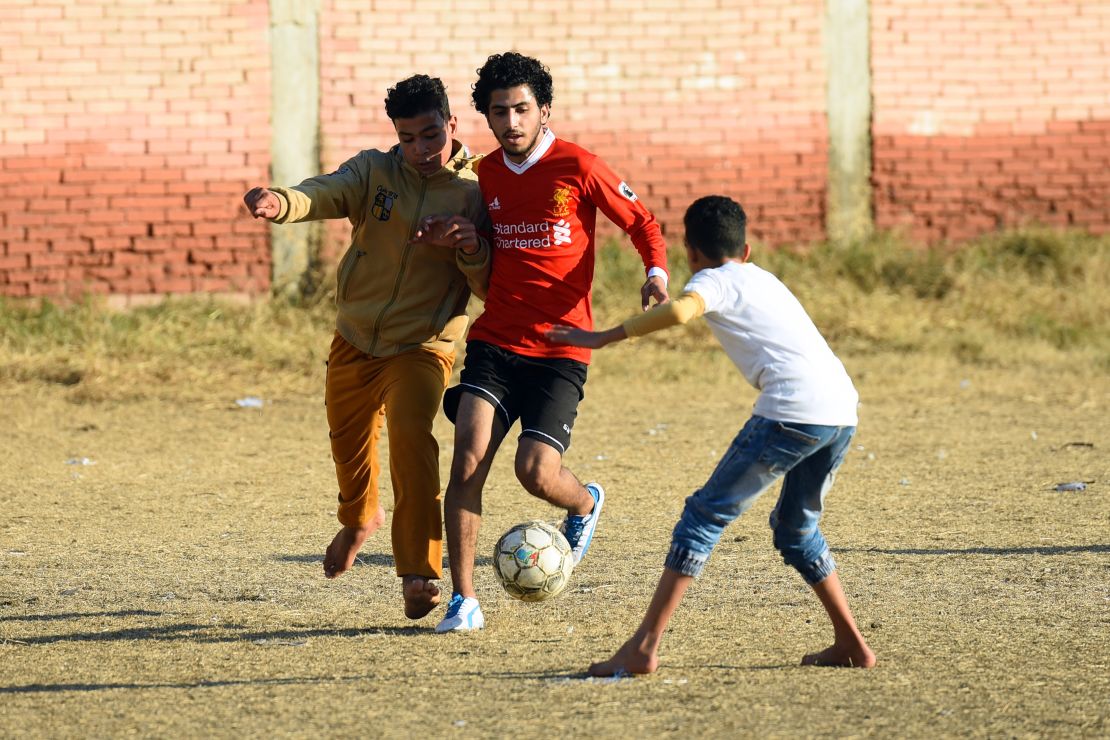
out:
{"label": "barefoot boy in white t-shirt and rolled-up jeans, back turned", "polygon": [[604,332],[556,326],[556,342],[601,348],[628,336],[704,315],[729,358],[759,391],[753,416],[709,480],[686,499],[663,576],[636,632],[592,676],[652,673],[658,647],[683,595],[702,572],[725,527],[785,476],[770,515],[776,549],[813,587],[833,621],[833,645],[805,656],[806,666],[871,668],[818,528],[825,494],[856,430],[859,396],[801,304],[777,277],[747,262],[747,216],[720,195],[686,211],[686,260],[694,276],[682,296]]}

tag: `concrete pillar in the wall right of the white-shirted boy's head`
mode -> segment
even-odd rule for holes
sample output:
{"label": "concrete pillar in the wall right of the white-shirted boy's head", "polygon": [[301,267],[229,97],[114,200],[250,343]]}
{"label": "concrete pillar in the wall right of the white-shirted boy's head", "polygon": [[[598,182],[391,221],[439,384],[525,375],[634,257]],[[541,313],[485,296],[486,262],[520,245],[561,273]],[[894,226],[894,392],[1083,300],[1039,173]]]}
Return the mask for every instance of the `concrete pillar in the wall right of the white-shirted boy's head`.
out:
{"label": "concrete pillar in the wall right of the white-shirted boy's head", "polygon": [[847,244],[875,227],[871,199],[871,51],[869,0],[826,0],[829,241]]}

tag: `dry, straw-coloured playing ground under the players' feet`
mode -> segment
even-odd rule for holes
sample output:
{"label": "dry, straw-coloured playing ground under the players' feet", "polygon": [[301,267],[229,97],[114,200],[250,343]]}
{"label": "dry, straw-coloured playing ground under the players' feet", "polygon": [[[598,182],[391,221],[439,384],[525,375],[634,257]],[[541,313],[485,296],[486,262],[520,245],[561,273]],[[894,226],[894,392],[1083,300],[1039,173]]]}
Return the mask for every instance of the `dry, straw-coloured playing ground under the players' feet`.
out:
{"label": "dry, straw-coloured playing ground under the players' feet", "polygon": [[[660,670],[618,680],[584,670],[638,624],[685,496],[754,398],[719,353],[598,354],[567,457],[608,493],[594,547],[541,605],[504,596],[483,556],[476,635],[435,635],[442,607],[404,618],[386,530],[323,578],[337,524],[319,394],[255,409],[235,404],[250,387],[79,403],[0,385],[0,737],[1110,734],[1107,375],[845,359],[861,422],[824,529],[877,669],[798,667],[830,633],[770,546],[768,493],[726,531]],[[481,553],[557,518],[508,462]]]}

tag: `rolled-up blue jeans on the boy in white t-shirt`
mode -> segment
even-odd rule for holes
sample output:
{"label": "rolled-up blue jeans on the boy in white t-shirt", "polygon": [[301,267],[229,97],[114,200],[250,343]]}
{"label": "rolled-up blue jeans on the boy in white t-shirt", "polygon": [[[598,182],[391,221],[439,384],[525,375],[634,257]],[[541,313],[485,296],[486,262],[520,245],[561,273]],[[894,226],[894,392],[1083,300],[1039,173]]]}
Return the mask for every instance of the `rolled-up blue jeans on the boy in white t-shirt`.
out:
{"label": "rolled-up blue jeans on the boy in white t-shirt", "polygon": [[817,523],[825,494],[848,453],[854,426],[773,422],[753,416],[700,489],[686,499],[666,566],[698,576],[720,534],[786,476],[770,514],[775,548],[813,586],[836,570]]}

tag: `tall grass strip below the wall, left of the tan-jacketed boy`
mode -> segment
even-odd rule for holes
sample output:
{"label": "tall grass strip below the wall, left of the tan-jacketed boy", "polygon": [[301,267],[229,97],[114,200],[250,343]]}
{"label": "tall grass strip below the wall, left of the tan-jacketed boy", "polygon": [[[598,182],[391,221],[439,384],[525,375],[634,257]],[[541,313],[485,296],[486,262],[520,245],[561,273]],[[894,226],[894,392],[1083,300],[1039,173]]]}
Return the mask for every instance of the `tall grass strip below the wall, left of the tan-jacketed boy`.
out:
{"label": "tall grass strip below the wall, left of the tan-jacketed boy", "polygon": [[127,312],[0,302],[0,382],[78,386],[89,399],[297,384],[322,366],[333,311],[182,297]]}

